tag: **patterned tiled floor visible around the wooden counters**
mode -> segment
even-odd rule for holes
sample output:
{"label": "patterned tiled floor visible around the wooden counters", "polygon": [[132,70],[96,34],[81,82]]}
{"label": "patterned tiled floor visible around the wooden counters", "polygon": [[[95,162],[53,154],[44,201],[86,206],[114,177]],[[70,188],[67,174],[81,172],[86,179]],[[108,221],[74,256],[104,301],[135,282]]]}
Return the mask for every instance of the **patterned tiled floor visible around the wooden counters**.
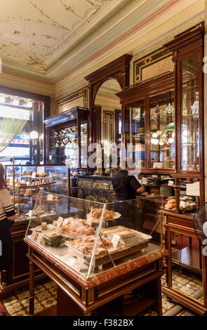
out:
{"label": "patterned tiled floor visible around the wooden counters", "polygon": [[[165,285],[165,276],[162,278],[162,285]],[[193,275],[179,270],[173,270],[173,286],[182,292],[192,294],[201,287],[201,279],[197,275]],[[22,289],[13,292],[2,300],[8,314],[11,316],[28,316],[29,315],[29,290]],[[35,287],[34,312],[41,312],[56,304],[56,285],[54,282],[46,281]],[[163,314],[171,310],[176,303],[162,295]],[[145,312],[145,315],[156,315],[151,310]],[[185,308],[178,313],[178,316],[195,316],[195,314]]]}

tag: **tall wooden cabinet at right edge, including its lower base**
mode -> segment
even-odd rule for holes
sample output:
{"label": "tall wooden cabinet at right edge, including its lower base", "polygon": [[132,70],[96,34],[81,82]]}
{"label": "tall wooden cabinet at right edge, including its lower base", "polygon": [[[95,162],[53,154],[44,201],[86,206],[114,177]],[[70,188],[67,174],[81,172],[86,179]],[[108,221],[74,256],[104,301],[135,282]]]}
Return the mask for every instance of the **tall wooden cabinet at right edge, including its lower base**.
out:
{"label": "tall wooden cabinet at right edge, including its lower base", "polygon": [[[167,284],[163,292],[187,308],[200,315],[207,314],[206,291],[206,257],[203,256],[201,239],[194,229],[194,213],[180,211],[180,181],[186,183],[199,182],[197,202],[204,202],[204,170],[203,170],[203,23],[196,25],[187,32],[179,34],[166,48],[173,52],[175,62],[175,199],[176,211],[164,211],[166,216],[166,247],[169,256],[166,259]],[[181,213],[181,214],[179,214]],[[172,240],[179,235],[181,242],[189,239],[187,246],[181,246],[179,263],[175,260]],[[178,237],[179,237],[178,236]],[[185,258],[183,258],[186,256]],[[173,284],[175,266],[198,275],[198,292],[180,291]],[[185,279],[185,275],[183,275]],[[188,288],[190,289],[190,288]]]}

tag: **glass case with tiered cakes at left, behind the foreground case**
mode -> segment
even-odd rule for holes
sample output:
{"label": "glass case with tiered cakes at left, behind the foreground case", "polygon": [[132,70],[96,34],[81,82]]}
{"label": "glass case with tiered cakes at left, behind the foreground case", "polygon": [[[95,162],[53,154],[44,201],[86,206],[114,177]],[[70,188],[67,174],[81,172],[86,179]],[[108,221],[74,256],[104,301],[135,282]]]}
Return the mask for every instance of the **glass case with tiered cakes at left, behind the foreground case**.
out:
{"label": "glass case with tiered cakes at left, behind the foreground case", "polygon": [[29,216],[41,190],[68,195],[67,166],[6,165],[5,168],[8,190],[19,218]]}

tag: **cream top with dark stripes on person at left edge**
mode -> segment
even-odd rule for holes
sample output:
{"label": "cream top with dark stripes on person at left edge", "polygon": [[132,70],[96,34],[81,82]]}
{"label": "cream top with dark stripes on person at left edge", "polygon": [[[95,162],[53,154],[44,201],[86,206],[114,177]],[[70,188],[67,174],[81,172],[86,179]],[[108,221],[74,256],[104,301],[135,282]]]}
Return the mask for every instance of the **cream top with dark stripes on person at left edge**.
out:
{"label": "cream top with dark stripes on person at left edge", "polygon": [[0,221],[14,215],[15,211],[8,190],[0,190]]}

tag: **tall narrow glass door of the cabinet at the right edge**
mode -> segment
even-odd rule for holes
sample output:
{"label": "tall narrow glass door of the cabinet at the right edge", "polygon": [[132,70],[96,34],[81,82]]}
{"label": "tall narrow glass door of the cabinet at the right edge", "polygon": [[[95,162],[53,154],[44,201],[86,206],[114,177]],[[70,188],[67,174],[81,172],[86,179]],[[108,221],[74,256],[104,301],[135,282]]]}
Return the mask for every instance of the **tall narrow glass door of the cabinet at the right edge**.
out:
{"label": "tall narrow glass door of the cabinet at the right edge", "polygon": [[201,58],[194,55],[179,62],[180,66],[180,113],[178,127],[180,150],[178,150],[178,170],[181,172],[201,172]]}

